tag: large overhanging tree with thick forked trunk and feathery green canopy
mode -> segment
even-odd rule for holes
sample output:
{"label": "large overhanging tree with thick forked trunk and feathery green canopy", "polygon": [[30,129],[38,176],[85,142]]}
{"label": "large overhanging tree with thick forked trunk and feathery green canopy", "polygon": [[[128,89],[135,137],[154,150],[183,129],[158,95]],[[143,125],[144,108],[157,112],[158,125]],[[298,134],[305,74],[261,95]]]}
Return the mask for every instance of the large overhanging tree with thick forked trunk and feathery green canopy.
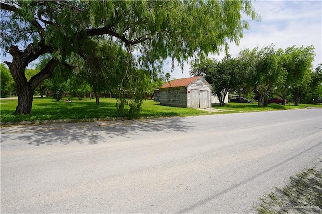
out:
{"label": "large overhanging tree with thick forked trunk and feathery green canopy", "polygon": [[[2,1],[1,48],[17,84],[17,114],[29,114],[35,88],[88,41],[106,39],[138,55],[140,65],[156,68],[171,57],[179,64],[238,44],[246,14],[258,19],[250,1]],[[18,46],[19,45],[19,46]],[[48,64],[29,81],[28,64],[51,53]],[[160,67],[158,67],[160,68]]]}

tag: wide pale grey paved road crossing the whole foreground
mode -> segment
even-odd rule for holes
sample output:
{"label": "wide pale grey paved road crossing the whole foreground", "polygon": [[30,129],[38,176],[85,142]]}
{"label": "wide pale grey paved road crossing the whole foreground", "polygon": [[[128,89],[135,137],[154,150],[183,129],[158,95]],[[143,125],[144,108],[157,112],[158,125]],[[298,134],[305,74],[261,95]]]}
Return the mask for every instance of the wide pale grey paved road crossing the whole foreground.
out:
{"label": "wide pale grey paved road crossing the whole foreground", "polygon": [[320,109],[1,129],[2,213],[249,213],[320,164]]}

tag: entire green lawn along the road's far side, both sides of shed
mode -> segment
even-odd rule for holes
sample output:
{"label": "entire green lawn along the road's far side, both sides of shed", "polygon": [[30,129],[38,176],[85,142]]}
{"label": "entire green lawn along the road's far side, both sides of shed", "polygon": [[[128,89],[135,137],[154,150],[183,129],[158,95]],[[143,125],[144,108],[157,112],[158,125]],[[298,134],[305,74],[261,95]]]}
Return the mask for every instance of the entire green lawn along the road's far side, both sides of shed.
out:
{"label": "entire green lawn along the road's far side, both sides of shed", "polygon": [[[63,100],[63,99],[62,99]],[[70,103],[63,101],[55,101],[52,98],[35,97],[33,101],[32,111],[29,115],[15,115],[17,100],[0,100],[0,116],[1,124],[19,123],[22,121],[44,122],[48,120],[65,120],[69,122],[82,122],[91,120],[111,120],[117,119],[115,107],[116,99],[100,98],[100,105],[95,105],[95,99],[89,100],[73,100]],[[216,112],[207,112],[198,109],[179,108],[159,105],[153,100],[145,100],[142,105],[140,118],[145,117],[172,117],[172,116],[195,116],[205,114],[223,114],[253,111],[271,111],[271,110],[287,110],[294,108],[305,108],[313,105],[294,106],[292,104],[280,106],[271,104],[268,107],[260,108],[257,103],[229,103],[223,107],[213,105],[213,108],[222,110]],[[318,107],[318,105],[315,105]],[[321,107],[321,106],[320,106]]]}

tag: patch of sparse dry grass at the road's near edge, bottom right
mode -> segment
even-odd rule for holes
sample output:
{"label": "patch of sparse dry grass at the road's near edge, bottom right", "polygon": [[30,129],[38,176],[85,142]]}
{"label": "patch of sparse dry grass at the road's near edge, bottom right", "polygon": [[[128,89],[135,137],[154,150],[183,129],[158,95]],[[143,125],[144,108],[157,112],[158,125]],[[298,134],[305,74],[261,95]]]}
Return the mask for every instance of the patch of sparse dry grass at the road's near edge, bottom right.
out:
{"label": "patch of sparse dry grass at the road's near edge, bottom right", "polygon": [[322,159],[261,198],[258,213],[322,213]]}

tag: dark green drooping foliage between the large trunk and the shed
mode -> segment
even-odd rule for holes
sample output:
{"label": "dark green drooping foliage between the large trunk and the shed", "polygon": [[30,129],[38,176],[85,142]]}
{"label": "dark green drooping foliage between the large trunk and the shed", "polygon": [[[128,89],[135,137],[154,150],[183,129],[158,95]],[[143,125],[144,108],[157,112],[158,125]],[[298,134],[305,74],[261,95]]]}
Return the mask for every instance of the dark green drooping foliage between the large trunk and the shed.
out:
{"label": "dark green drooping foliage between the large trunk and the shed", "polygon": [[[151,78],[147,80],[145,70],[136,69],[134,58],[119,45],[106,42],[97,45],[90,54],[83,55],[86,63],[79,71],[93,89],[96,104],[99,104],[98,93],[113,92],[118,98],[118,113],[137,117]],[[129,110],[125,108],[127,105]]]}

